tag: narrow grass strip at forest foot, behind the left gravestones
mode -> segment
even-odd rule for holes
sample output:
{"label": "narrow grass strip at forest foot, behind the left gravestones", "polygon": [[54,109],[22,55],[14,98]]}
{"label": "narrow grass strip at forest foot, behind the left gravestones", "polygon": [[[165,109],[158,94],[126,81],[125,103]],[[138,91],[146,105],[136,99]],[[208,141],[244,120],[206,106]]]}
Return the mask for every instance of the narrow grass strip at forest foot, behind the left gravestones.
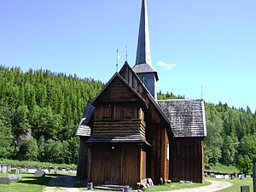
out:
{"label": "narrow grass strip at forest foot, behind the left gravestones", "polygon": [[49,163],[49,162],[39,162],[39,161],[32,161],[32,160],[5,160],[1,159],[0,160],[0,165],[12,165],[12,166],[46,166],[46,167],[52,167],[52,166],[58,166],[58,167],[63,167],[63,168],[72,168],[76,169],[77,166],[72,164],[72,165],[67,165],[67,164],[55,164],[55,163]]}

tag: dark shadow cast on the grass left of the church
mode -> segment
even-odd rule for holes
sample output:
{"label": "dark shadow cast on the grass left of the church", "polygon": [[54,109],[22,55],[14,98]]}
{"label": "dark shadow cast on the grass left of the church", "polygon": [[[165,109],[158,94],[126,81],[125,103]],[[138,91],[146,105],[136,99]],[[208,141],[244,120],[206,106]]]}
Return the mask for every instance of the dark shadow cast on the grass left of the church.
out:
{"label": "dark shadow cast on the grass left of the church", "polygon": [[73,188],[77,187],[77,177],[71,175],[61,174],[47,174],[44,177],[25,176],[21,181],[17,183],[37,184],[48,187],[65,187]]}

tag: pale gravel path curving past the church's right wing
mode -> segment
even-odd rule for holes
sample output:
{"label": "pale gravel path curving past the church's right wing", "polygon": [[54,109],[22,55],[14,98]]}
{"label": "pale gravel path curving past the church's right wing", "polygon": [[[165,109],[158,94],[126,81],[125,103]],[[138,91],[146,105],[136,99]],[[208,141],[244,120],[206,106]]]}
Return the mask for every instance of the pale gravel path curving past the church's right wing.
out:
{"label": "pale gravel path curving past the church's right wing", "polygon": [[[219,191],[222,189],[226,189],[232,186],[232,183],[230,182],[224,182],[224,181],[209,181],[210,185],[207,185],[205,187],[200,188],[194,188],[194,189],[178,189],[178,190],[172,190],[172,192],[214,192]],[[171,191],[170,191],[171,192]]]}

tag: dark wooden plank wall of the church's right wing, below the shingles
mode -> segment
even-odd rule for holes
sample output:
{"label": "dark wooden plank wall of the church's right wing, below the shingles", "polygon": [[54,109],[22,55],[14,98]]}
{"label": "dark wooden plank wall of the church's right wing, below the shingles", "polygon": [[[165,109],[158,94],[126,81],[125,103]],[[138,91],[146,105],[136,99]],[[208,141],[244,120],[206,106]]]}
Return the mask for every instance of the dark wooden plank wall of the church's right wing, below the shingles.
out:
{"label": "dark wooden plank wall of the church's right wing, below the shingles", "polygon": [[170,179],[195,183],[204,182],[203,139],[201,137],[172,138],[170,143]]}

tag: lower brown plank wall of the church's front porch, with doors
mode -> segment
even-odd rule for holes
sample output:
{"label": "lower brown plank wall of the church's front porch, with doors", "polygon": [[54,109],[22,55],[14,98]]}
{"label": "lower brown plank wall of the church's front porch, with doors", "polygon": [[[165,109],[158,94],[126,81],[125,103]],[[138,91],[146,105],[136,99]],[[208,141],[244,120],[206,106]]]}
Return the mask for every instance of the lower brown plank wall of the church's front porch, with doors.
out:
{"label": "lower brown plank wall of the church's front porch, with doors", "polygon": [[[111,150],[120,152],[120,160],[115,157],[108,158],[108,153]],[[121,143],[94,143],[91,146],[91,172],[90,179],[97,183],[112,184],[135,184],[140,182],[144,177],[146,165],[143,165],[145,151],[137,144],[121,144]],[[116,156],[116,158],[119,158]],[[119,162],[117,162],[119,161]],[[110,177],[109,163],[111,163],[111,172],[116,172],[116,178]],[[119,165],[119,167],[116,167]],[[107,180],[106,180],[107,179]]]}

